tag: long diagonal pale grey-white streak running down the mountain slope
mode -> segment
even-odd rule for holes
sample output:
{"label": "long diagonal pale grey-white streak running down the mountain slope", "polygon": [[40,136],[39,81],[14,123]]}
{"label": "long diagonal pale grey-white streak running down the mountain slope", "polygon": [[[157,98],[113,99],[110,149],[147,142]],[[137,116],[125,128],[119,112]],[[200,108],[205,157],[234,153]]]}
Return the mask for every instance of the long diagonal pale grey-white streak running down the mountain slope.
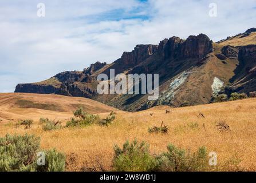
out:
{"label": "long diagonal pale grey-white streak running down the mountain slope", "polygon": [[174,81],[170,83],[170,86],[162,94],[162,96],[159,97],[159,100],[157,101],[157,103],[160,105],[170,104],[170,101],[174,99],[176,90],[178,90],[179,87],[186,81],[190,73],[191,73],[190,71],[184,71],[183,73],[179,74],[178,77],[176,77]]}

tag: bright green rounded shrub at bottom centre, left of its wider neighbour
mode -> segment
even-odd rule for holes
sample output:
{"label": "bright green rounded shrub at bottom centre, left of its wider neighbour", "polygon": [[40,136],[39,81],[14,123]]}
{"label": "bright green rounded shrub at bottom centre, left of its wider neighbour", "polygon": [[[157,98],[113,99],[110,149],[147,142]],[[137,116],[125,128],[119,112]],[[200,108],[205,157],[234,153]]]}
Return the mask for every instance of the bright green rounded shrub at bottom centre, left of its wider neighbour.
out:
{"label": "bright green rounded shrub at bottom centre, left of its wider neighbour", "polygon": [[113,169],[119,172],[145,172],[156,166],[156,160],[149,154],[148,145],[136,140],[125,142],[123,149],[115,145]]}

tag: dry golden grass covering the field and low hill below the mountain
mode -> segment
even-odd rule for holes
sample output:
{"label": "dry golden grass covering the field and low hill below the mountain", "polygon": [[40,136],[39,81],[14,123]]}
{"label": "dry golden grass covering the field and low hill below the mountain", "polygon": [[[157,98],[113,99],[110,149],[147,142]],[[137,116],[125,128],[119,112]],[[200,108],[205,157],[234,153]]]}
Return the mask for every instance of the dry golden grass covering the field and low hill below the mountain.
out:
{"label": "dry golden grass covering the field and low hill below the mountain", "polygon": [[[65,121],[72,117],[71,110],[54,112],[20,109],[17,106],[12,109],[6,95],[9,95],[9,100],[14,102],[13,97],[20,94],[0,94],[0,119],[2,120],[0,136],[5,136],[6,133],[29,133],[41,137],[41,148],[56,148],[66,154],[68,171],[79,171],[84,166],[97,166],[97,162],[105,170],[111,170],[113,146],[115,144],[121,146],[126,140],[135,138],[148,142],[152,154],[166,151],[166,146],[170,143],[192,152],[200,146],[206,146],[209,152],[216,152],[218,155],[218,168],[215,169],[217,171],[256,170],[256,98],[185,108],[159,106],[135,113],[116,110],[116,120],[109,126],[91,125],[86,128],[64,128],[45,132],[38,123],[40,117]],[[23,97],[33,98],[38,102],[46,101],[45,97],[52,98],[52,101],[60,97],[60,101],[64,100],[61,105],[86,100],[40,94],[23,94]],[[93,104],[97,104],[99,109],[102,107],[104,110],[115,110],[105,105],[101,106],[99,102]],[[90,106],[90,102],[86,105]],[[166,114],[166,109],[170,109],[170,113]],[[109,114],[104,110],[98,111],[101,118]],[[150,113],[153,115],[151,116]],[[199,113],[203,113],[205,118],[199,117]],[[9,120],[6,120],[6,117]],[[34,124],[31,129],[15,128],[15,122],[24,117],[33,118]],[[169,127],[167,134],[148,133],[149,127],[160,126],[162,121]],[[220,121],[225,121],[230,126],[230,131],[220,132],[216,126]]]}

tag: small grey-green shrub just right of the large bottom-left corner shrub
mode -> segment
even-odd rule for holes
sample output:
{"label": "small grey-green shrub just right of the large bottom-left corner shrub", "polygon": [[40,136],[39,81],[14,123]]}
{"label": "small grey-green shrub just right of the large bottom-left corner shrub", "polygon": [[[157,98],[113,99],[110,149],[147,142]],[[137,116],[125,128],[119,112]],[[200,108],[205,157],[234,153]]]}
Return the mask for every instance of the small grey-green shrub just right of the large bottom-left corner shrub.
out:
{"label": "small grey-green shrub just right of the large bottom-left corner shrub", "polygon": [[56,149],[46,150],[45,166],[37,166],[38,172],[64,172],[66,157],[65,154],[57,152]]}

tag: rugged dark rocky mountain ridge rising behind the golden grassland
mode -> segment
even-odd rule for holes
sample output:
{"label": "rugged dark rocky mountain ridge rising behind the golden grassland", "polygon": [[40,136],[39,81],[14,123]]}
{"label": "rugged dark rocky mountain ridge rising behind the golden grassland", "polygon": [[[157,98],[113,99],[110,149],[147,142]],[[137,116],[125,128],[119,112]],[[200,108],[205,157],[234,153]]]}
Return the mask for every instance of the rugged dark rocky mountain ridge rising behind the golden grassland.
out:
{"label": "rugged dark rocky mountain ridge rising behind the golden grassland", "polygon": [[[223,92],[220,88],[212,89],[220,83],[222,88],[230,86],[226,87],[227,93],[256,90],[256,45],[245,45],[252,34],[254,29],[219,43],[199,34],[186,40],[171,37],[160,41],[159,45],[137,45],[109,65],[96,62],[83,71],[65,71],[46,81],[19,84],[15,92],[86,97],[132,111],[155,105],[181,106],[184,102],[206,104],[214,91]],[[237,45],[235,40],[243,45],[232,46]],[[229,42],[232,44],[228,45]],[[250,42],[254,41],[250,39]],[[99,95],[97,75],[109,74],[110,69],[115,69],[115,74],[159,74],[159,99],[148,101],[148,94]],[[219,83],[214,83],[216,81]]]}

